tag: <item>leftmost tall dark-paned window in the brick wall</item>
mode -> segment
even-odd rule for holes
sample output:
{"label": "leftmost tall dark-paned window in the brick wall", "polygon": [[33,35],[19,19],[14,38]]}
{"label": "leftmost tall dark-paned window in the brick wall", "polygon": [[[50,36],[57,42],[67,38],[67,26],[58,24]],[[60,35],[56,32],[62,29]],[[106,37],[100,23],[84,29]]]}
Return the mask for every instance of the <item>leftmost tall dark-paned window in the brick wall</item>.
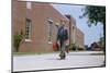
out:
{"label": "leftmost tall dark-paned window in the brick wall", "polygon": [[25,24],[25,39],[26,40],[31,39],[31,27],[32,27],[32,22],[31,20],[26,19],[26,24]]}

